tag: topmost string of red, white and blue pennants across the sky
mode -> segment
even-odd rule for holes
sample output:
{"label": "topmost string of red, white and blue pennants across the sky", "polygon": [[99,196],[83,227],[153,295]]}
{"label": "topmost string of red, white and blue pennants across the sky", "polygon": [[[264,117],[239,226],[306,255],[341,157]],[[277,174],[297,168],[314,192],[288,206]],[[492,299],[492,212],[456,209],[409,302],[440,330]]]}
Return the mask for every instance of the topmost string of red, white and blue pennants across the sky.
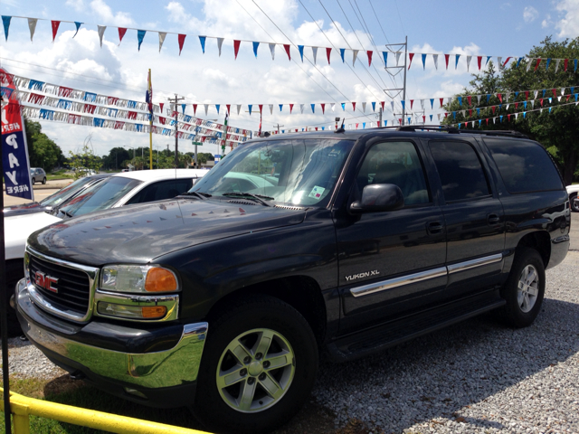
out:
{"label": "topmost string of red, white and blue pennants across the sky", "polygon": [[[2,23],[4,25],[6,42],[8,41],[8,34],[9,34],[9,30],[10,30],[10,25],[12,24],[12,18],[21,18],[21,19],[27,20],[28,29],[30,31],[31,42],[33,41],[33,36],[34,36],[35,31],[36,31],[36,24],[38,24],[39,20],[51,22],[52,42],[54,42],[56,35],[58,34],[59,29],[61,28],[60,26],[62,23],[74,24],[74,29],[71,29],[71,30],[74,30],[74,32],[75,32],[74,35],[72,36],[72,38],[74,38],[77,35],[77,33],[79,33],[81,26],[84,24],[84,23],[79,22],[79,21],[63,21],[63,20],[58,21],[58,20],[47,20],[44,18],[2,15]],[[166,35],[167,34],[176,34],[176,36],[177,36],[176,42],[177,42],[178,48],[179,48],[179,55],[181,55],[181,52],[183,51],[183,48],[185,46],[185,40],[188,36],[185,33],[159,32],[156,30],[153,31],[153,30],[133,29],[133,28],[129,28],[129,27],[112,27],[112,26],[97,24],[97,33],[99,35],[101,47],[102,47],[102,40],[104,38],[105,32],[106,32],[108,27],[113,28],[113,29],[117,29],[118,38],[119,38],[119,45],[123,41],[123,38],[125,37],[128,30],[136,31],[137,32],[138,51],[140,51],[141,44],[145,40],[145,36],[147,33],[157,33],[159,52],[161,52],[161,48],[163,47],[163,44],[165,42]],[[225,41],[225,38],[217,37],[217,36],[207,36],[207,35],[190,35],[189,40],[191,40],[191,38],[195,37],[195,36],[197,36],[197,38],[199,40],[199,43],[201,45],[201,50],[203,53],[205,52],[205,46],[206,46],[207,39],[216,40],[217,50],[219,51],[219,56],[221,56],[222,48],[223,48],[223,42]],[[304,44],[304,45],[292,46],[288,43],[259,42],[259,41],[248,41],[248,40],[242,40],[242,39],[233,39],[233,55],[234,55],[235,59],[237,59],[242,42],[252,44],[252,51],[253,51],[253,54],[255,55],[256,58],[258,57],[259,47],[261,45],[267,45],[270,52],[271,52],[271,60],[275,60],[276,47],[278,47],[279,45],[281,46],[280,48],[282,48],[283,52],[285,52],[285,54],[287,55],[289,61],[291,60],[292,50],[293,50],[294,56],[295,56],[295,54],[296,54],[295,50],[297,48],[299,58],[301,59],[302,62],[304,60],[304,50],[309,49],[309,50],[311,50],[312,57],[314,59],[314,63],[316,63],[318,60],[318,50],[321,50],[322,52],[326,53],[327,63],[330,64],[331,56],[332,56],[332,50],[333,50],[332,47],[320,47],[317,45],[305,45]],[[339,54],[339,57],[343,63],[346,62],[346,52],[351,52],[351,55],[352,55],[351,59],[352,59],[352,65],[353,66],[356,65],[356,60],[358,59],[358,54],[360,52],[365,53],[365,57],[366,57],[368,66],[371,66],[373,58],[374,58],[374,53],[375,53],[373,50],[364,50],[364,49],[356,50],[356,49],[350,49],[350,48],[338,48],[337,52],[339,52],[337,54]],[[404,55],[404,52],[400,52],[400,51],[398,51],[398,52],[388,52],[388,51],[379,52],[379,54],[377,54],[377,55],[382,56],[384,66],[388,66],[389,54],[390,54],[390,58],[394,57],[395,62],[396,62],[396,66],[399,66],[400,65],[400,58],[401,58],[401,56]],[[531,58],[531,57],[527,57],[527,56],[506,56],[505,57],[505,56],[479,56],[479,55],[468,55],[468,54],[458,54],[458,53],[457,54],[454,54],[454,53],[440,54],[440,53],[433,53],[433,52],[409,52],[408,57],[406,59],[407,63],[408,63],[408,69],[409,70],[413,64],[414,57],[418,57],[419,59],[422,60],[422,69],[423,70],[426,69],[426,62],[429,58],[432,59],[432,64],[434,65],[434,68],[436,70],[438,70],[438,67],[439,67],[439,58],[441,59],[441,61],[443,60],[446,70],[448,70],[449,65],[452,65],[452,64],[454,64],[455,70],[458,69],[459,63],[461,62],[460,59],[463,59],[463,61],[466,63],[466,67],[467,67],[468,71],[470,71],[470,64],[473,60],[475,60],[476,66],[478,67],[479,71],[481,70],[483,65],[486,67],[491,59],[496,59],[496,61],[498,63],[498,67],[500,69],[506,68],[508,65],[508,62],[510,61],[510,62],[512,62],[512,64],[515,65],[516,68],[518,68],[522,63],[523,66],[525,68],[527,68],[527,71],[530,71],[531,68],[534,68],[533,71],[537,71],[541,64],[544,64],[546,71],[548,71],[549,66],[552,63],[555,63],[555,73],[557,71],[559,71],[559,69],[561,69],[562,71],[565,71],[565,72],[568,72],[571,70],[573,70],[573,72],[576,72],[577,71],[577,64],[578,64],[577,59],[569,59],[569,58],[560,58],[560,59],[559,58],[550,58],[550,57],[549,58]],[[405,59],[403,59],[403,60],[405,60]],[[391,61],[391,63],[392,62],[393,61]],[[473,68],[474,68],[474,66],[473,66]]]}

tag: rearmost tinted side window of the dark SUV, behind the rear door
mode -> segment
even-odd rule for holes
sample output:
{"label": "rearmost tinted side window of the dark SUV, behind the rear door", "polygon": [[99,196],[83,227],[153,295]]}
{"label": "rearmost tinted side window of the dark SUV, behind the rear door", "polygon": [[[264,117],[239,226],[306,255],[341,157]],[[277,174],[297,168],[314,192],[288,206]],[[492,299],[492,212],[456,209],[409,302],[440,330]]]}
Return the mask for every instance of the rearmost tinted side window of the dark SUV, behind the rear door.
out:
{"label": "rearmost tinted side window of the dark SUV, behind the rear door", "polygon": [[561,190],[563,183],[545,148],[529,140],[485,138],[508,193]]}

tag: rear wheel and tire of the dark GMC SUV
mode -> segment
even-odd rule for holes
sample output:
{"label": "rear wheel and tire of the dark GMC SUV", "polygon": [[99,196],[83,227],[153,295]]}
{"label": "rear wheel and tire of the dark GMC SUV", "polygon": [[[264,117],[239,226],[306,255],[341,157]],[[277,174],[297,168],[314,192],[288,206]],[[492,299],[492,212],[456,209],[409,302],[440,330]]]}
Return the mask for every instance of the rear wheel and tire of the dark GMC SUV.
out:
{"label": "rear wheel and tire of the dark GMC SUV", "polygon": [[536,250],[517,248],[502,295],[507,300],[503,314],[508,325],[533,324],[545,297],[545,264]]}

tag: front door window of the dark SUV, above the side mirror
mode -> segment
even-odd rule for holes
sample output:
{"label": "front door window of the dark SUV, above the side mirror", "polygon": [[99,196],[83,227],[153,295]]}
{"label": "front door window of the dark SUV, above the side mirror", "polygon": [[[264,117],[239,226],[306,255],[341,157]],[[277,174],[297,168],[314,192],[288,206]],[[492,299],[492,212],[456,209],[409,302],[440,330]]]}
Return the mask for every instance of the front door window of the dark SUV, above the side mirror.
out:
{"label": "front door window of the dark SUV, above the side mirror", "polygon": [[429,203],[424,171],[416,148],[409,142],[372,146],[356,178],[358,193],[370,184],[394,184],[402,190],[405,205]]}

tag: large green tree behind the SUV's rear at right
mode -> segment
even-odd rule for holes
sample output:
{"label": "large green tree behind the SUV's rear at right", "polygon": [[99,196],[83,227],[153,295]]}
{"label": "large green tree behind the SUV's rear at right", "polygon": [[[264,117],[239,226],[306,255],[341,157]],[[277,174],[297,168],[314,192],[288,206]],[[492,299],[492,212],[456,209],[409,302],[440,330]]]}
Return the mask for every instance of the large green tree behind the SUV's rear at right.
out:
{"label": "large green tree behind the SUV's rear at right", "polygon": [[[536,61],[527,65],[527,60],[522,60],[518,66],[517,62],[513,61],[510,67],[497,74],[489,62],[489,69],[482,74],[473,75],[474,80],[470,81],[471,88],[465,89],[457,96],[482,95],[480,103],[474,98],[470,106],[468,101],[463,99],[460,105],[458,99],[453,99],[450,105],[445,106],[450,114],[442,123],[469,122],[468,125],[472,127],[471,121],[476,119],[475,128],[512,129],[526,134],[546,147],[563,169],[565,184],[571,184],[579,162],[579,107],[574,104],[562,105],[569,97],[563,97],[561,102],[557,97],[561,96],[559,93],[561,88],[571,88],[579,84],[579,71],[574,71],[572,64],[573,59],[579,58],[579,37],[563,42],[553,42],[550,36],[546,37],[539,46],[534,46],[528,52],[527,58],[542,59],[536,71]],[[569,59],[567,71],[563,71],[565,69],[563,61],[559,64],[558,71],[555,72],[556,64],[550,64],[547,69],[546,61],[551,59]],[[554,89],[556,95],[553,94]],[[526,90],[538,90],[537,97],[534,92],[527,95]],[[503,98],[502,102],[496,96],[498,93]],[[514,98],[506,100],[508,93]],[[491,97],[487,100],[486,96],[489,94]],[[551,102],[549,98],[552,99]],[[533,99],[537,101],[530,102]],[[498,105],[502,106],[500,111],[493,112],[490,109],[490,106]],[[522,111],[520,105],[527,107],[526,116],[516,115]],[[530,111],[540,108],[544,108],[542,112]],[[502,122],[494,123],[492,118],[500,116]],[[490,120],[479,122],[479,119],[485,118]]]}

